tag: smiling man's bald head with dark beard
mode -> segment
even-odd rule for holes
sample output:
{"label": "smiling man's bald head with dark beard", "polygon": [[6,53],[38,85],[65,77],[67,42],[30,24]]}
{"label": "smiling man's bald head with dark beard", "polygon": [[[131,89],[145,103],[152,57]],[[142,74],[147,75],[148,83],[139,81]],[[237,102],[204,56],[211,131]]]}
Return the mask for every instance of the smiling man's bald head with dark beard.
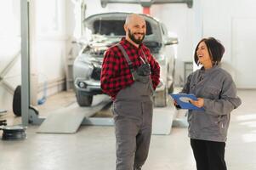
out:
{"label": "smiling man's bald head with dark beard", "polygon": [[140,16],[134,15],[126,27],[126,32],[129,39],[136,44],[140,44],[145,38],[145,31],[145,20]]}

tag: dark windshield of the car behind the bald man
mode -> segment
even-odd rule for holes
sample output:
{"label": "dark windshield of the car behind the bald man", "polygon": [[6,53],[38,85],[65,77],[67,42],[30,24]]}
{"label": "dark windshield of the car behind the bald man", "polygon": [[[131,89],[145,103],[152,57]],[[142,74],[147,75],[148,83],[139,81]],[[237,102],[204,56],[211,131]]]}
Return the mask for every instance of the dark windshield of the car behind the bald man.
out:
{"label": "dark windshield of the car behind the bald man", "polygon": [[[93,23],[93,34],[105,36],[125,36],[123,29],[124,20],[95,20]],[[146,35],[152,34],[152,28],[149,22],[146,21]]]}

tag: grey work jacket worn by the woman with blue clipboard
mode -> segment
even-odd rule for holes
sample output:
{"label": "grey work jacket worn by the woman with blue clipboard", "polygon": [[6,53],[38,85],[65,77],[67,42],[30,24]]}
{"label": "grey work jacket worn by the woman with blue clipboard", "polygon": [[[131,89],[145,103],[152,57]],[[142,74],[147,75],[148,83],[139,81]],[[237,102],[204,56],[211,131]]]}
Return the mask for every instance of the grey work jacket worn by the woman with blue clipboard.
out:
{"label": "grey work jacket worn by the woman with blue clipboard", "polygon": [[181,93],[195,94],[204,99],[204,111],[188,112],[189,137],[225,142],[230,112],[241,105],[230,74],[218,65],[208,70],[202,67],[191,73]]}

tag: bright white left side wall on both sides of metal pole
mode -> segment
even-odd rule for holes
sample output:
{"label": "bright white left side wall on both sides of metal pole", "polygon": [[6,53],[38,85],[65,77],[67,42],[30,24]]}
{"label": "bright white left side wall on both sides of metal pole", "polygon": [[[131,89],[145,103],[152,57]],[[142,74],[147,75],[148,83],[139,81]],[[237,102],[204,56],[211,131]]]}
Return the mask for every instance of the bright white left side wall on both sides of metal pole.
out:
{"label": "bright white left side wall on both sides of metal pole", "polygon": [[[65,56],[68,53],[66,42],[70,35],[66,31],[65,1],[33,0],[31,2],[33,3],[31,79],[36,84],[33,88],[39,93],[37,99],[41,99],[45,82],[48,84],[48,95],[65,88]],[[14,54],[20,50],[20,1],[0,1],[0,22],[1,73],[14,58]],[[21,82],[20,59],[4,77],[4,81],[8,82],[9,88],[0,84],[0,109],[11,111],[12,91]]]}

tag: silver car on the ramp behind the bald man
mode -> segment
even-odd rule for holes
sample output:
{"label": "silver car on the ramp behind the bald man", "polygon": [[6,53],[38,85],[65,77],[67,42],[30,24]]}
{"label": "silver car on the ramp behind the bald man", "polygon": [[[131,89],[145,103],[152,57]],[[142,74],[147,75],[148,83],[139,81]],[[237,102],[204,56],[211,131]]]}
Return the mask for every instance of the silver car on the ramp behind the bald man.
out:
{"label": "silver car on the ramp behind the bald man", "polygon": [[[85,32],[90,37],[73,65],[74,85],[77,103],[80,106],[92,104],[96,94],[102,94],[100,71],[105,50],[125,37],[123,25],[129,13],[94,14],[84,20]],[[169,37],[166,27],[151,16],[143,15],[146,21],[145,46],[158,61],[160,83],[154,95],[155,106],[166,106],[168,93],[174,90],[174,65],[177,37]]]}

